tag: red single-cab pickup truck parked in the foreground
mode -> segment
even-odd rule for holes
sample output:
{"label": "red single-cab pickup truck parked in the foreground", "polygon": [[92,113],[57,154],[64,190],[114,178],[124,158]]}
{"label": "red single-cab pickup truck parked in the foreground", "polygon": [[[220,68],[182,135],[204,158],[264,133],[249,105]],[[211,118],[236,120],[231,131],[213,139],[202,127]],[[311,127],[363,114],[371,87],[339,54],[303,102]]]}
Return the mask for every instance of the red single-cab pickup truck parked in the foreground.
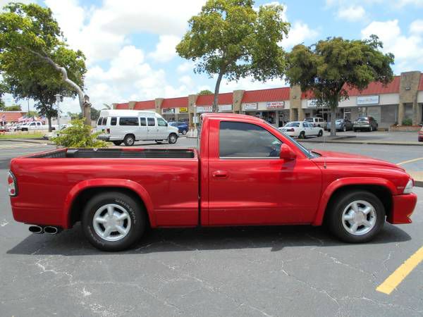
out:
{"label": "red single-cab pickup truck parked in the foreground", "polygon": [[37,233],[82,222],[117,251],[147,227],[321,225],[367,242],[410,223],[413,180],[393,163],[309,151],[264,120],[202,115],[199,149],[57,149],[11,161],[13,216]]}

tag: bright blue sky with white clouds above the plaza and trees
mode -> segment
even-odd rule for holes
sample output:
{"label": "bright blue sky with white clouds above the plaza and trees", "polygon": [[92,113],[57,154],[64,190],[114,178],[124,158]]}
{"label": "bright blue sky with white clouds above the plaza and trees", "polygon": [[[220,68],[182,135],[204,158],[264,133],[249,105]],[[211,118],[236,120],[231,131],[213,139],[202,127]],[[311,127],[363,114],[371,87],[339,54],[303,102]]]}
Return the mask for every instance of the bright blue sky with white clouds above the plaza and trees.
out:
{"label": "bright blue sky with white clouds above the plaza and trees", "polygon": [[[8,0],[0,0],[3,6]],[[20,0],[20,2],[30,2]],[[94,108],[114,102],[171,98],[214,91],[215,78],[195,74],[194,65],[180,58],[175,46],[188,20],[205,0],[37,0],[49,6],[72,49],[87,57],[86,93]],[[423,0],[255,1],[255,6],[279,3],[290,23],[281,46],[311,45],[341,36],[364,39],[376,34],[384,51],[395,55],[394,73],[423,71]],[[221,92],[286,86],[283,79],[255,82],[223,80]],[[6,104],[14,104],[10,96]],[[18,101],[27,108],[27,101]],[[33,108],[30,101],[30,108]],[[77,99],[65,99],[63,113],[79,111]]]}

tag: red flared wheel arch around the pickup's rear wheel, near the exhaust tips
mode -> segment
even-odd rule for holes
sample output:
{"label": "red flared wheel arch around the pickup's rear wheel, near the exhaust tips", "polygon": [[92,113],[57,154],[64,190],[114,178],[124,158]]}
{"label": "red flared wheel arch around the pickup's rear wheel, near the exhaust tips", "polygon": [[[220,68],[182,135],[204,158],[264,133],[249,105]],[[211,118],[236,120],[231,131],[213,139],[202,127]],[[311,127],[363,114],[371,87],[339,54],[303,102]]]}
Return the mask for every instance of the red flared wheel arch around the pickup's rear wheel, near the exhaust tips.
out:
{"label": "red flared wheel arch around the pickup's rear wheel, near the exhaust tips", "polygon": [[152,199],[142,185],[132,180],[97,178],[79,182],[69,191],[63,207],[63,228],[71,228],[76,221],[80,220],[84,202],[105,190],[123,192],[137,199],[145,207],[149,225],[152,228],[156,226]]}

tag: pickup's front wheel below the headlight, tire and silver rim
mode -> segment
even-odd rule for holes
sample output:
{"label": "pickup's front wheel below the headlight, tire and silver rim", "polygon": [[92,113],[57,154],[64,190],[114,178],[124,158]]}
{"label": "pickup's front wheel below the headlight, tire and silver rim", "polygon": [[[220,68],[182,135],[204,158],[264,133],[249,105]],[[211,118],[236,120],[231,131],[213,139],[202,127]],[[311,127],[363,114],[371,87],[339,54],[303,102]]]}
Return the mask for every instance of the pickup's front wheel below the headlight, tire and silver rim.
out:
{"label": "pickup's front wheel below the headlight, tire and silver rim", "polygon": [[340,240],[368,242],[384,227],[385,209],[379,198],[367,191],[350,191],[333,199],[327,224]]}

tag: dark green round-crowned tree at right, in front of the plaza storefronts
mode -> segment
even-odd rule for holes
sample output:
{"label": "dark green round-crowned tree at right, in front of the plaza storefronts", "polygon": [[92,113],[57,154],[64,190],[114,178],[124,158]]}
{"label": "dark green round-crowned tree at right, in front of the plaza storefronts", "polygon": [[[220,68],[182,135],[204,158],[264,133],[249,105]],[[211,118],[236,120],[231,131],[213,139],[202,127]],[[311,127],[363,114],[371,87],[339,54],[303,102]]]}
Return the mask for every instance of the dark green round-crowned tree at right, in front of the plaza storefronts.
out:
{"label": "dark green round-crowned tree at right, in front of the plaza storefronts", "polygon": [[[348,99],[348,88],[365,89],[370,82],[386,85],[393,80],[393,54],[381,52],[376,35],[370,39],[348,40],[332,37],[312,46],[296,45],[288,54],[286,77],[291,85],[312,92],[318,105],[331,109],[331,127],[335,126],[339,101]],[[331,129],[336,135],[336,129]]]}

